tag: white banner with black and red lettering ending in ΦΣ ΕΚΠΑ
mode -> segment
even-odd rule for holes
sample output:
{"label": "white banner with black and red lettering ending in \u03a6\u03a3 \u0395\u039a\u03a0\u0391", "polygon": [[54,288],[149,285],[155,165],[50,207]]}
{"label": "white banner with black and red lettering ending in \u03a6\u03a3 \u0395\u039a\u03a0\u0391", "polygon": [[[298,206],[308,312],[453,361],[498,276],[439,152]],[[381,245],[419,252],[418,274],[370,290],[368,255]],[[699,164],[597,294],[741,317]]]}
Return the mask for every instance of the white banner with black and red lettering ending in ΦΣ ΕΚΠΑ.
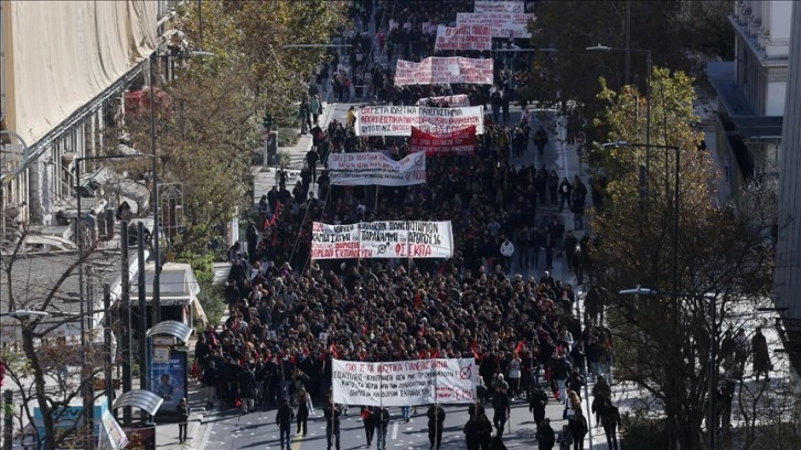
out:
{"label": "white banner with black and red lettering ending in \u03a6\u03a3 \u0395\u039a\u03a0\u0391", "polygon": [[314,222],[311,259],[450,258],[450,222],[382,221],[348,225]]}

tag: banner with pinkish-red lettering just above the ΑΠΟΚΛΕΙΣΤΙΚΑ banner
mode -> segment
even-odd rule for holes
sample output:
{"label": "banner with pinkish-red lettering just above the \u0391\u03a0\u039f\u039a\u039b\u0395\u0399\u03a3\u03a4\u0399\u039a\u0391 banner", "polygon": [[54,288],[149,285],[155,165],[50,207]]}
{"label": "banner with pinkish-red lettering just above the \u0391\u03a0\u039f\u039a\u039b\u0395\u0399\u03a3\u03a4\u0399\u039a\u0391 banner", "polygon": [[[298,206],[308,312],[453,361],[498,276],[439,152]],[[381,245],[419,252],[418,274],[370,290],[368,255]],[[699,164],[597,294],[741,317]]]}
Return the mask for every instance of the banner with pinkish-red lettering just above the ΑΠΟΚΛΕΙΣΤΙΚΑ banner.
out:
{"label": "banner with pinkish-red lettering just above the \u0391\u03a0\u039f\u039a\u039b\u0395\u0399\u03a3\u03a4\u0399\u039a\u0391 banner", "polygon": [[491,85],[492,81],[491,58],[429,56],[419,63],[398,60],[395,67],[395,86],[452,83]]}

